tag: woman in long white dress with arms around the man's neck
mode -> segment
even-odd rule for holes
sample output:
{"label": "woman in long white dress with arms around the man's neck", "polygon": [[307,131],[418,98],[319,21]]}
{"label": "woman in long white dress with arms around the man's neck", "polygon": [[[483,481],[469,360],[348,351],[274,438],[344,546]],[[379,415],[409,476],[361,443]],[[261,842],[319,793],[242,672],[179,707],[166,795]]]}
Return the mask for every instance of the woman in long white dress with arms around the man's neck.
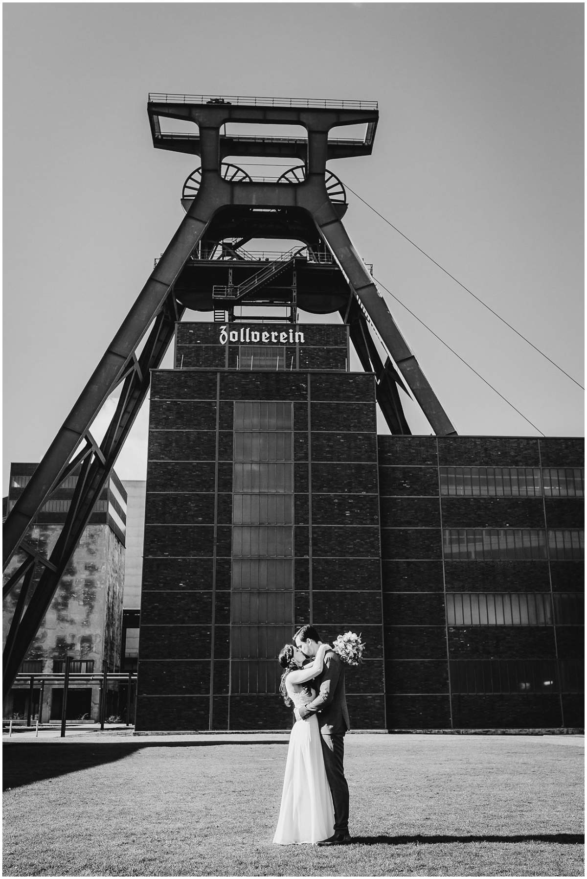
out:
{"label": "woman in long white dress with arms around the man's neck", "polygon": [[[294,644],[286,644],[279,653],[280,693],[286,705],[299,708],[315,698],[308,681],[322,672],[324,653],[329,644],[321,644],[311,665],[302,668],[306,659]],[[292,843],[319,842],[334,831],[332,796],[324,769],[322,737],[315,715],[296,720],[287,749],[286,775],[283,781],[281,808],[273,842],[279,846]]]}

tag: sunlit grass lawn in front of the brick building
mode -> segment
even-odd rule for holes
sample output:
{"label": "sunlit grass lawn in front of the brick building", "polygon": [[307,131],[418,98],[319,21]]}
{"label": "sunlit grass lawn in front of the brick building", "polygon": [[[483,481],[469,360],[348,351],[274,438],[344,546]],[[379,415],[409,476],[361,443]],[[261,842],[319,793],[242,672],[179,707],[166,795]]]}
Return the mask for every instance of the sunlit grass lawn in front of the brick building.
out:
{"label": "sunlit grass lawn in front of the brick building", "polygon": [[271,734],[13,738],[3,875],[583,875],[583,738],[347,736],[336,848],[272,845],[285,760]]}

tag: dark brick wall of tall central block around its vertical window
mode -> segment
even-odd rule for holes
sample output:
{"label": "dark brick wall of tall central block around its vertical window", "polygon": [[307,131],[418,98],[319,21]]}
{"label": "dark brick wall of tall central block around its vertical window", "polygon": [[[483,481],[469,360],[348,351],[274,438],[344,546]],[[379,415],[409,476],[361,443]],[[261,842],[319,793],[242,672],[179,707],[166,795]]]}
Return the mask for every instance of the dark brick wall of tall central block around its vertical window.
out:
{"label": "dark brick wall of tall central block around its vertical window", "polygon": [[[153,375],[137,730],[291,725],[278,694],[229,694],[233,413],[243,400],[293,403],[288,637],[309,621],[324,640],[362,632],[369,658],[346,677],[351,723],[385,729],[374,379],[322,371],[325,360],[344,370],[346,327],[295,329],[305,334],[295,357],[315,371],[186,368],[188,348],[219,347],[219,325],[179,324],[183,367]],[[226,364],[230,341],[221,347]]]}

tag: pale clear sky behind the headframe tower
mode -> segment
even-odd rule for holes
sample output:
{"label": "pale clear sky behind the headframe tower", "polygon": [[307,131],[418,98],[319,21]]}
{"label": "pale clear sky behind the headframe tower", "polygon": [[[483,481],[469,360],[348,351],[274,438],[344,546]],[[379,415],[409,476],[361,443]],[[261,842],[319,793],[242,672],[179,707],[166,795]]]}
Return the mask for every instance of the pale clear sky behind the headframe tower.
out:
{"label": "pale clear sky behind the headframe tower", "polygon": [[[3,494],[11,461],[45,454],[182,221],[199,159],[153,149],[149,91],[378,101],[373,155],[330,170],[584,384],[583,4],[3,12]],[[583,436],[583,390],[348,201],[344,226],[457,432]],[[122,479],[145,478],[148,408]]]}

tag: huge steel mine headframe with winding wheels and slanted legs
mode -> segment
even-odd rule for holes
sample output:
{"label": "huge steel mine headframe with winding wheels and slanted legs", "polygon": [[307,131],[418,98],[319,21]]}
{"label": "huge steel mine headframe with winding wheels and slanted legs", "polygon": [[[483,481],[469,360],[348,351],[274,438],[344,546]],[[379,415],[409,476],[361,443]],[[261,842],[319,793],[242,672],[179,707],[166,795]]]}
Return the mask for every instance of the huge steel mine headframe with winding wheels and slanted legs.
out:
{"label": "huge steel mine headframe with winding wheels and slanted legs", "polygon": [[[344,185],[326,168],[331,159],[371,153],[377,105],[152,94],[148,113],[156,149],[193,154],[201,164],[185,181],[184,220],[4,522],[4,596],[19,586],[4,647],[4,693],[149,392],[150,370],[160,366],[186,308],[212,310],[222,322],[243,319],[244,306],[264,309],[264,320],[271,319],[269,306],[281,306],[291,322],[299,308],[338,312],[362,366],[375,374],[377,401],[391,432],[409,433],[398,388],[416,399],[435,433],[455,432],[344,229]],[[192,131],[163,130],[174,124],[169,120],[184,128],[191,123]],[[290,125],[305,132],[234,134],[228,131],[233,123]],[[333,128],[345,126],[362,126],[364,136],[330,136]],[[225,161],[239,156],[280,157],[293,165],[277,179],[256,179]],[[300,245],[278,255],[247,251],[259,238]],[[117,389],[116,411],[98,443],[91,425]],[[50,555],[43,556],[30,540],[35,517],[73,473],[76,488],[65,525]]]}

